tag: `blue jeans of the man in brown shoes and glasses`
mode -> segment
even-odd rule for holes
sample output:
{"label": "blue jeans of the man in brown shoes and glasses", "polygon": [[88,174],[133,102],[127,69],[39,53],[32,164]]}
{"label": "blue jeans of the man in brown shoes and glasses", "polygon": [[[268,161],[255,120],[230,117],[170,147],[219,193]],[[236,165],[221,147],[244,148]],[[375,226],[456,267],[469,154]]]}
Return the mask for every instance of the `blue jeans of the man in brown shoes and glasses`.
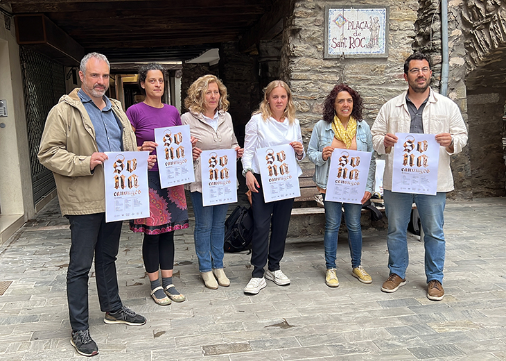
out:
{"label": "blue jeans of the man in brown shoes and glasses", "polygon": [[412,203],[415,202],[424,230],[425,274],[427,283],[438,280],[443,283],[444,253],[444,206],[446,193],[430,194],[397,193],[385,190],[385,212],[388,217],[388,268],[391,274],[405,278],[409,264],[406,232],[410,222]]}

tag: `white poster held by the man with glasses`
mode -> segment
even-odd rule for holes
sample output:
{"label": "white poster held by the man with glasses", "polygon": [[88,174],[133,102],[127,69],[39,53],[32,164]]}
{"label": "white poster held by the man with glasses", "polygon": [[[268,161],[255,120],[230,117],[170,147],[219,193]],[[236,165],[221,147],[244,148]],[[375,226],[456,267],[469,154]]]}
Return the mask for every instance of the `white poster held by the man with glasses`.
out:
{"label": "white poster held by the man with glasses", "polygon": [[392,192],[433,194],[437,192],[439,144],[434,134],[395,133]]}

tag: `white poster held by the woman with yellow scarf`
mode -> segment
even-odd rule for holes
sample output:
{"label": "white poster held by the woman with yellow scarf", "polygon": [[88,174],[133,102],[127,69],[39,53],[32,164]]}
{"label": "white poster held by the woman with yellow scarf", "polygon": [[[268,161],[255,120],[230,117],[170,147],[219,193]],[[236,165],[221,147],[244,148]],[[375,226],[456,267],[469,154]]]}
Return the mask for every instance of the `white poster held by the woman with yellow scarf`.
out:
{"label": "white poster held by the woman with yellow scarf", "polygon": [[372,153],[336,148],[332,152],[325,201],[361,204]]}

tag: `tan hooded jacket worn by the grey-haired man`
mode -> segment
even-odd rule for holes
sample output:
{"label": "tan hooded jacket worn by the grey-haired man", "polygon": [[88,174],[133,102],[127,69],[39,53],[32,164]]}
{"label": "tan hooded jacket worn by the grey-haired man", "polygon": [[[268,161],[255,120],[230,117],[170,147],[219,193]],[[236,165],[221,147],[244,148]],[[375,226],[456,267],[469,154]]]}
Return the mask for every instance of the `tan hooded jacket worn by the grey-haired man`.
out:
{"label": "tan hooded jacket worn by the grey-haired man", "polygon": [[[98,152],[95,130],[82,105],[79,89],[64,95],[47,116],[38,158],[53,171],[62,215],[105,212],[103,165],[89,170],[91,154]],[[121,103],[110,99],[112,110],[123,126],[123,150],[137,151],[135,134]]]}

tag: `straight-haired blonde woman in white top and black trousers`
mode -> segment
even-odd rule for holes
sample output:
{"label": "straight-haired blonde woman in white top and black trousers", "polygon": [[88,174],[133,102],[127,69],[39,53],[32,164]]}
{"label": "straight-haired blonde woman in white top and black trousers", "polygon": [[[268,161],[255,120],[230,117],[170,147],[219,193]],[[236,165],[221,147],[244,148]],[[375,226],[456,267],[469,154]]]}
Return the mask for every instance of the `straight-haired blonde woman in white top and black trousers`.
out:
{"label": "straight-haired blonde woman in white top and black trousers", "polygon": [[[252,278],[244,289],[246,294],[258,294],[266,287],[265,278],[277,285],[289,285],[290,279],[281,271],[279,262],[285,251],[293,199],[265,203],[260,178],[257,148],[290,144],[297,160],[305,156],[299,121],[290,87],[283,81],[272,81],[265,87],[263,101],[246,124],[243,156],[243,176],[252,192],[253,240]],[[302,170],[297,165],[297,176]],[[271,230],[269,242],[269,230]],[[268,264],[268,269],[264,267]]]}

